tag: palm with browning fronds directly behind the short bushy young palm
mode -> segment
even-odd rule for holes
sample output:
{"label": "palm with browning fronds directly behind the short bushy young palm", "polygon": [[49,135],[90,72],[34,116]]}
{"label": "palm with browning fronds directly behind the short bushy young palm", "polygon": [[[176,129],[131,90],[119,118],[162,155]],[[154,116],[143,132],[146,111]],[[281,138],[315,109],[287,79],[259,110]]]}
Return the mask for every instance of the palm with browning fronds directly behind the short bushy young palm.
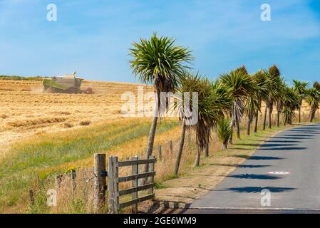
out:
{"label": "palm with browning fronds directly behind the short bushy young palm", "polygon": [[[239,123],[242,120],[247,100],[255,90],[254,81],[244,71],[231,71],[230,73],[222,74],[220,80],[222,85],[229,89],[232,96],[232,105],[229,113],[231,115],[230,126],[233,128],[235,123]],[[237,136],[240,138],[239,132],[237,132]]]}

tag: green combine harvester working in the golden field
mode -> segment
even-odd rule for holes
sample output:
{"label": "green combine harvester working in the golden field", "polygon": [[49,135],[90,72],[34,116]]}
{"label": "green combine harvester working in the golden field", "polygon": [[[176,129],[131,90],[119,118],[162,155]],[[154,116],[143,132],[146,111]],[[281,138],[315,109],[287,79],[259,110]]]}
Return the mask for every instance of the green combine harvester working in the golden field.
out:
{"label": "green combine harvester working in the golden field", "polygon": [[76,77],[76,71],[60,77],[44,78],[42,81],[43,92],[45,93],[86,93],[92,94],[92,88],[81,90],[83,78]]}

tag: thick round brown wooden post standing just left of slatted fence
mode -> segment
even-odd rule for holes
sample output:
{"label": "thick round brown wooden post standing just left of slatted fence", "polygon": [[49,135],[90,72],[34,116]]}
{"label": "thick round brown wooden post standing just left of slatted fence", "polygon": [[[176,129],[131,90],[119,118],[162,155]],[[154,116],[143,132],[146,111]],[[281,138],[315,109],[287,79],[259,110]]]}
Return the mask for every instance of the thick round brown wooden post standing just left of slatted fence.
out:
{"label": "thick round brown wooden post standing just left of slatted fence", "polygon": [[105,154],[94,155],[94,212],[101,213],[105,207],[106,176]]}

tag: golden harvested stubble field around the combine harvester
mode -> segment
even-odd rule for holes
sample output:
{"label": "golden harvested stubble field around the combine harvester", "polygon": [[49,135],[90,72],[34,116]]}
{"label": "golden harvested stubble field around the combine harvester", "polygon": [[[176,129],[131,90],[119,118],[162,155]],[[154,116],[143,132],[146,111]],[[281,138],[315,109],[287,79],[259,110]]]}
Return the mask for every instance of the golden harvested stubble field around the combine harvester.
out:
{"label": "golden harvested stubble field around the combine harvester", "polygon": [[121,95],[137,86],[84,81],[94,94],[61,94],[43,93],[41,81],[0,80],[0,155],[16,139],[120,119]]}

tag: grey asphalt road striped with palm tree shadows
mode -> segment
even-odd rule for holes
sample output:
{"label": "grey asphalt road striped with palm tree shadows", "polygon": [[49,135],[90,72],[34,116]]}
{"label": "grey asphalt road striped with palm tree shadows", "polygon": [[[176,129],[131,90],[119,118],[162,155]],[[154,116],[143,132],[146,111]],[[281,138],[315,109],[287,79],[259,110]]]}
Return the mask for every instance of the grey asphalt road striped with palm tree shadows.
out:
{"label": "grey asphalt road striped with palm tree shadows", "polygon": [[[262,190],[270,191],[269,205]],[[187,212],[320,212],[320,124],[277,134],[190,208]]]}

